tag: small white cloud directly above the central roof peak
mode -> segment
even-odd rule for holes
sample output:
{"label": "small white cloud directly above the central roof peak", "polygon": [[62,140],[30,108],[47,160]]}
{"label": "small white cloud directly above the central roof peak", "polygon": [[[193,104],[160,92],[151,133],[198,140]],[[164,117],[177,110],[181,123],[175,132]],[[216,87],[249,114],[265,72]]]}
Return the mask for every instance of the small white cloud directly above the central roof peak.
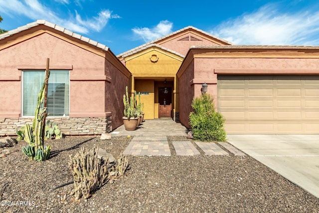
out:
{"label": "small white cloud directly above the central roof peak", "polygon": [[171,32],[173,23],[168,20],[161,20],[158,25],[152,29],[148,27],[135,27],[133,32],[141,37],[145,42],[155,40],[163,35],[167,35]]}

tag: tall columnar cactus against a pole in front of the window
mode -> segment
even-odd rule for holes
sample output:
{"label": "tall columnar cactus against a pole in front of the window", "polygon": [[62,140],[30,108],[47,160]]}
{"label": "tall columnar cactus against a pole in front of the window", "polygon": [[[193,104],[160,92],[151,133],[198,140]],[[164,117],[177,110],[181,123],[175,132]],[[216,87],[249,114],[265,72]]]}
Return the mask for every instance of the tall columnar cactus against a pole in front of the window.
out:
{"label": "tall columnar cactus against a pole in front of the window", "polygon": [[38,94],[32,127],[29,124],[26,124],[21,128],[21,130],[16,130],[18,139],[23,137],[25,142],[28,143],[27,147],[22,147],[22,152],[30,160],[36,161],[47,160],[50,156],[51,150],[50,145],[44,146],[42,138],[43,121],[45,121],[46,117],[46,107],[41,108],[41,105],[45,95],[44,87],[46,80],[47,79],[44,79],[41,90]]}

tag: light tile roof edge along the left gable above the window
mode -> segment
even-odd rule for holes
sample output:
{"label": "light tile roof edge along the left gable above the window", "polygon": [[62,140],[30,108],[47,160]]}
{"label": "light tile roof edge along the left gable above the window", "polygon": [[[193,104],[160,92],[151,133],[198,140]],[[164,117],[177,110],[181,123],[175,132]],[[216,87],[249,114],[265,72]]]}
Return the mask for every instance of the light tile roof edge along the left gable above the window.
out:
{"label": "light tile roof edge along the left gable above the window", "polygon": [[51,28],[53,28],[55,30],[61,31],[61,32],[65,33],[65,34],[67,34],[69,36],[72,36],[74,38],[77,38],[77,39],[80,39],[82,41],[85,41],[85,42],[87,42],[87,43],[89,43],[91,45],[94,45],[94,46],[96,46],[98,48],[101,48],[101,49],[103,49],[105,51],[109,50],[109,47],[104,45],[104,44],[101,44],[101,43],[99,43],[97,41],[94,41],[94,40],[92,40],[90,38],[84,37],[83,35],[80,35],[80,34],[77,34],[75,32],[72,32],[72,31],[70,31],[70,30],[68,30],[68,29],[66,29],[64,27],[58,26],[58,25],[56,25],[54,23],[51,23],[51,22],[48,22],[46,20],[37,20],[37,21],[31,22],[31,23],[28,23],[28,24],[26,24],[24,26],[20,26],[20,27],[18,27],[16,29],[12,29],[12,30],[10,30],[10,31],[8,31],[6,33],[0,34],[0,40],[4,39],[6,37],[9,37],[11,35],[14,35],[14,34],[16,34],[18,32],[21,32],[23,30],[38,26],[40,24],[43,24],[43,25],[51,27]]}

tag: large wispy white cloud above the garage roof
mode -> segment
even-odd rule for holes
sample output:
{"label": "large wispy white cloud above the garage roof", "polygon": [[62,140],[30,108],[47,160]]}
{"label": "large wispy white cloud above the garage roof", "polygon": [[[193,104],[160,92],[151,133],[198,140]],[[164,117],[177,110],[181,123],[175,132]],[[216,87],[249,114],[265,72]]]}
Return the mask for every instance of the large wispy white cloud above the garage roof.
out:
{"label": "large wispy white cloud above the garage roof", "polygon": [[319,45],[319,12],[281,13],[268,4],[221,23],[211,33],[235,44]]}

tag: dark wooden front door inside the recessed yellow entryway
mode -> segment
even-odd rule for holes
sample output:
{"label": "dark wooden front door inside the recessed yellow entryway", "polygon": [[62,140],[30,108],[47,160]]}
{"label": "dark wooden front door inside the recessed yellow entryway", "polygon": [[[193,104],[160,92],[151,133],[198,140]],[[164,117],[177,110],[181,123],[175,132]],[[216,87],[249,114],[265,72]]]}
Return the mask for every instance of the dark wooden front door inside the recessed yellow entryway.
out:
{"label": "dark wooden front door inside the recessed yellow entryway", "polygon": [[171,117],[171,87],[159,88],[159,118]]}

